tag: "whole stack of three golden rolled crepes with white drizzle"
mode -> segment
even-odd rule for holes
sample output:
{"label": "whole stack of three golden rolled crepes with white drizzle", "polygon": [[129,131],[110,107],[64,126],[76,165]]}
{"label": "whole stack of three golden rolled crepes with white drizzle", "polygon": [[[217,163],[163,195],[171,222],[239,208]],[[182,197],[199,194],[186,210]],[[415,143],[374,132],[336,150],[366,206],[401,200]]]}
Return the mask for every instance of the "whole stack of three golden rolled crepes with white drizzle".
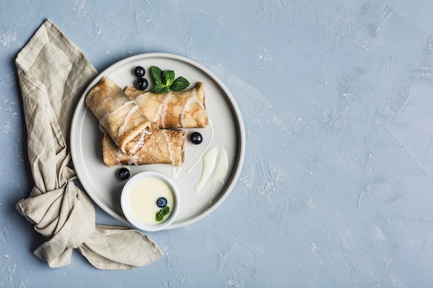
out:
{"label": "whole stack of three golden rolled crepes with white drizzle", "polygon": [[107,166],[182,166],[185,131],[208,125],[203,83],[192,89],[151,93],[120,88],[109,77],[93,87],[86,105],[104,127],[102,155]]}

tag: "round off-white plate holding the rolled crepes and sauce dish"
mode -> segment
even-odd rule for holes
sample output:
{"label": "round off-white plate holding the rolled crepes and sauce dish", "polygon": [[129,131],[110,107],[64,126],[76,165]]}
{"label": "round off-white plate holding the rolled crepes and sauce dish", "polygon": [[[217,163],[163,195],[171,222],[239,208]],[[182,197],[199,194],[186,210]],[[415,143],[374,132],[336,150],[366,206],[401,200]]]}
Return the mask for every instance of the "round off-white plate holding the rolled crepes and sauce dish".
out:
{"label": "round off-white plate holding the rolled crepes and sauce dish", "polygon": [[[102,162],[102,132],[98,119],[86,108],[84,98],[89,90],[98,84],[102,77],[110,77],[121,88],[133,86],[136,77],[133,68],[143,66],[145,78],[152,89],[150,67],[174,70],[176,77],[183,76],[190,81],[190,87],[197,81],[204,84],[205,105],[210,125],[206,128],[185,129],[185,162],[174,177],[181,192],[181,208],[176,220],[169,229],[184,227],[209,215],[227,198],[237,182],[245,156],[245,130],[239,108],[228,88],[210,70],[185,57],[167,53],[147,53],[123,59],[104,70],[84,91],[73,116],[71,126],[71,153],[75,171],[86,192],[104,211],[118,220],[127,222],[120,206],[120,192],[125,182],[118,180],[116,171],[119,166],[107,167]],[[203,142],[194,145],[190,133],[199,131]],[[213,135],[213,137],[211,137]],[[212,139],[212,141],[210,141]],[[214,145],[222,146],[228,155],[228,173],[224,183],[210,183],[203,193],[196,193],[194,186],[201,177],[201,156]],[[196,163],[194,168],[187,170]],[[172,165],[151,164],[131,166],[131,176],[142,171],[156,171],[172,177]]]}

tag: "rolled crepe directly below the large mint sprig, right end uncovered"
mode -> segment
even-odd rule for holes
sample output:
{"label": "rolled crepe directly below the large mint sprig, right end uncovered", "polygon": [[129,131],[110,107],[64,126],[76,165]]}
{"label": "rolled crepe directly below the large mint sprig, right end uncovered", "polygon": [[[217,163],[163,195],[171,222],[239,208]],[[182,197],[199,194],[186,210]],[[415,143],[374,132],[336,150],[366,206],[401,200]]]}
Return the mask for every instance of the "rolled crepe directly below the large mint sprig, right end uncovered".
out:
{"label": "rolled crepe directly below the large mint sprig, right end uncovered", "polygon": [[125,93],[159,128],[203,128],[208,125],[203,83],[178,92],[152,93],[127,87]]}

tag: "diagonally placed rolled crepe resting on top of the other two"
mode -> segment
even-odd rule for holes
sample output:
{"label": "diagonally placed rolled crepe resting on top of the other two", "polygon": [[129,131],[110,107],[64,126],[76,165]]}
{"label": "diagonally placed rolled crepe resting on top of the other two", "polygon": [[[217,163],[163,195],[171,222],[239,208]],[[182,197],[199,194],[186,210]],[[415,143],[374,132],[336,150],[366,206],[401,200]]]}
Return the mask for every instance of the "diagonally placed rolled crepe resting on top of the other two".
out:
{"label": "diagonally placed rolled crepe resting on top of the other two", "polygon": [[86,96],[86,105],[122,153],[134,155],[151,135],[151,122],[108,77],[96,85]]}

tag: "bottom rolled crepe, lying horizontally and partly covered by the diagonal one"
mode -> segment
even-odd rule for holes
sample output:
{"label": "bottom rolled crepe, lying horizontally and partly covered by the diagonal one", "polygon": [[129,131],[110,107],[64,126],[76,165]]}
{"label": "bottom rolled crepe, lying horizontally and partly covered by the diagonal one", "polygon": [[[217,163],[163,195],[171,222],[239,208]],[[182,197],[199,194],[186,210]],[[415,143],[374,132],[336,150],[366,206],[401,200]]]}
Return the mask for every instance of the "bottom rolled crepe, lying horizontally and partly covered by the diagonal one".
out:
{"label": "bottom rolled crepe, lying horizontally and partly covered by the diagonal one", "polygon": [[135,155],[122,153],[111,137],[105,133],[102,139],[104,163],[114,165],[172,164],[182,166],[185,160],[185,131],[154,129],[149,139]]}

